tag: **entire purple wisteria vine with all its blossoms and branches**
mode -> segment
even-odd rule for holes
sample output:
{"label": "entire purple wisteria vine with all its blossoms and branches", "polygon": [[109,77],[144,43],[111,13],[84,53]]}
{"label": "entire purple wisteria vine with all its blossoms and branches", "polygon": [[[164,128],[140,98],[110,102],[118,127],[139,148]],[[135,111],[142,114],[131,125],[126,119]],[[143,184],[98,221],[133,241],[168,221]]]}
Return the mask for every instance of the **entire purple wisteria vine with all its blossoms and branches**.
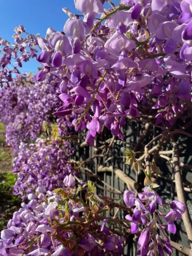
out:
{"label": "entire purple wisteria vine with all its blossoms and branches", "polygon": [[[120,256],[131,234],[138,238],[137,255],[171,255],[172,247],[192,255],[169,236],[176,234],[175,221],[182,218],[192,246],[180,169],[192,166],[180,162],[178,146],[180,135],[192,137],[186,131],[192,125],[192,2],[122,0],[115,6],[106,0],[108,10],[104,2],[74,0],[82,15],[63,8],[69,18],[62,32],[48,28],[45,38],[27,33],[23,38],[19,26],[16,45],[0,41],[0,118],[16,154],[14,194],[23,200],[1,232],[0,256]],[[39,56],[35,45],[42,50]],[[18,73],[21,61],[30,57],[43,66],[38,74],[12,79],[11,73]],[[17,66],[9,71],[12,58]],[[115,137],[124,140],[122,128],[131,120],[145,124],[145,130],[134,150],[124,147],[124,157],[138,175],[145,174],[144,188],[130,186],[131,179],[112,167],[129,187],[122,192],[104,183],[86,163],[106,160]],[[104,126],[112,138],[98,147],[95,138]],[[138,151],[151,127],[159,134]],[[102,150],[84,161],[72,158],[82,130],[86,144],[97,153]],[[161,152],[168,143],[171,152]],[[158,156],[172,167],[178,200],[164,202],[156,192]],[[120,200],[97,194],[97,182],[83,180],[81,172],[103,182]],[[165,214],[162,208],[170,211]],[[120,219],[118,212],[123,211],[125,219]]]}

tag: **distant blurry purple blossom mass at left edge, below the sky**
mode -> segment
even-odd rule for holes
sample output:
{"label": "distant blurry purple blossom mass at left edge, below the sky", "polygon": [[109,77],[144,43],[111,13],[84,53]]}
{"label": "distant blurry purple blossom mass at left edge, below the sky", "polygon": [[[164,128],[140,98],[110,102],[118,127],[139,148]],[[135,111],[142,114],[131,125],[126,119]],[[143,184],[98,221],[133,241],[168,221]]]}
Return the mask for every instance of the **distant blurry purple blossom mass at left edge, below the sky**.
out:
{"label": "distant blurry purple blossom mass at left edge, below the sky", "polygon": [[0,119],[6,130],[6,143],[14,153],[21,142],[30,142],[43,132],[43,122],[56,119],[52,112],[58,108],[60,79],[50,75],[36,82],[31,74],[18,74],[0,90]]}

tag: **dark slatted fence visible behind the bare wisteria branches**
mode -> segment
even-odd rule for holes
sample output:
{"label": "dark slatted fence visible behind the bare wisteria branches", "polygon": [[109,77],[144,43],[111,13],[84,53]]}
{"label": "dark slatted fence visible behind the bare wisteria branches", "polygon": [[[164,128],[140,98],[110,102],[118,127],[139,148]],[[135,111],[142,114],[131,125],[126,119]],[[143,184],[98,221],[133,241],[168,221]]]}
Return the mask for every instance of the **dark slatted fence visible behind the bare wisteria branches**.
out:
{"label": "dark slatted fence visible behind the bare wisteria branches", "polygon": [[[78,136],[80,137],[81,145],[76,144],[76,156],[74,156],[74,160],[85,161],[88,158],[92,158],[99,154],[105,155],[108,150],[108,146],[110,146],[109,153],[106,157],[105,156],[95,157],[92,159],[92,161],[85,163],[84,168],[87,168],[92,172],[94,172],[94,174],[97,174],[102,181],[106,182],[110,186],[120,191],[124,191],[125,189],[127,189],[126,184],[122,180],[117,178],[114,172],[118,168],[122,170],[125,174],[127,174],[130,178],[138,182],[139,184],[138,192],[142,192],[142,188],[144,186],[143,185],[144,174],[140,171],[140,174],[137,175],[134,170],[130,170],[129,164],[124,164],[125,158],[123,158],[123,152],[126,146],[132,150],[135,149],[136,151],[143,151],[144,146],[150,140],[152,140],[152,138],[154,138],[155,136],[157,136],[162,132],[157,128],[150,127],[150,129],[148,129],[147,136],[145,137],[145,139],[142,141],[141,144],[138,145],[137,148],[135,148],[145,128],[146,127],[144,124],[136,124],[133,121],[126,122],[126,126],[122,130],[124,134],[124,140],[122,141],[118,137],[113,138],[110,131],[108,131],[104,127],[101,134],[96,138],[95,147],[93,148],[90,148],[85,145],[84,141],[85,141],[86,134],[84,132],[80,132]],[[114,139],[114,142],[111,145],[110,142],[113,139]],[[182,148],[180,161],[185,164],[192,165],[192,157],[191,157],[192,156],[192,146],[191,146],[192,138],[186,138],[185,136],[180,136],[178,143],[180,148]],[[154,142],[153,146],[155,146],[156,144],[157,142]],[[172,144],[168,143],[164,145],[161,148],[161,150],[172,150]],[[139,158],[139,156],[140,155],[138,155],[137,158]],[[172,158],[172,154],[167,156],[169,158]],[[150,160],[152,160],[153,154],[151,154],[150,157],[151,157]],[[103,168],[105,171],[101,171],[101,168],[100,168],[101,166],[102,168],[105,167]],[[160,187],[156,189],[157,192],[160,194],[164,202],[170,202],[174,199],[176,200],[177,197],[176,197],[176,191],[175,191],[175,183],[172,181],[172,178],[174,177],[173,169],[170,166],[170,163],[168,162],[167,159],[164,159],[158,156],[157,166],[160,168],[162,172],[161,173],[162,177],[158,177],[158,180],[157,180],[157,183],[160,185]],[[191,170],[182,168],[182,177],[183,177],[183,181],[186,188],[188,187],[188,192],[187,191],[185,192],[185,196],[187,199],[190,215],[192,216],[192,192],[190,191],[190,188],[189,188],[190,184],[192,184]],[[93,179],[92,177],[90,177],[89,172],[84,169],[82,169],[82,178],[84,180]],[[117,201],[123,199],[122,195],[120,194],[114,194],[114,193],[108,192],[108,187],[102,182],[100,182],[99,180],[97,180],[96,183],[97,183],[96,192],[98,195],[109,196],[111,198],[116,199]],[[102,186],[102,189],[100,188],[100,186]],[[164,208],[161,208],[159,210],[164,213],[168,213],[170,211],[170,209],[168,208],[166,210]],[[118,213],[118,218],[124,219],[126,214],[128,213],[127,212],[123,213],[122,211],[120,211]],[[111,213],[108,213],[107,215],[108,218],[109,217],[112,218],[113,216],[114,216],[114,211]],[[176,225],[177,225],[178,232],[175,235],[170,235],[170,239],[180,244],[183,244],[184,246],[189,247],[184,224],[180,220],[177,222]],[[138,250],[137,240],[134,240],[133,238],[134,238],[134,235],[129,236],[127,241],[127,246],[124,250],[124,255],[129,255],[129,256],[136,255],[136,251]],[[178,255],[178,252],[174,250],[173,255]]]}

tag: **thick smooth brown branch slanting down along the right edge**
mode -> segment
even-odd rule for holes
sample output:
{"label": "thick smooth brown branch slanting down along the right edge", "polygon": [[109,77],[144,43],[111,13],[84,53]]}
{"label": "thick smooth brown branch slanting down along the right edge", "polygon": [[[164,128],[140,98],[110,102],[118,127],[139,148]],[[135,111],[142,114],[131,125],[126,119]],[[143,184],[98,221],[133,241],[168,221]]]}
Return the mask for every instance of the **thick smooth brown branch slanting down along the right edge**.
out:
{"label": "thick smooth brown branch slanting down along the right edge", "polygon": [[172,144],[173,144],[173,168],[174,168],[176,192],[177,192],[178,200],[182,202],[184,205],[186,205],[186,211],[182,215],[182,219],[184,222],[184,226],[186,229],[190,246],[192,248],[192,222],[191,222],[191,218],[190,218],[190,214],[189,214],[189,210],[188,210],[188,206],[185,198],[183,181],[182,181],[182,176],[180,172],[179,147],[175,138],[172,138]]}

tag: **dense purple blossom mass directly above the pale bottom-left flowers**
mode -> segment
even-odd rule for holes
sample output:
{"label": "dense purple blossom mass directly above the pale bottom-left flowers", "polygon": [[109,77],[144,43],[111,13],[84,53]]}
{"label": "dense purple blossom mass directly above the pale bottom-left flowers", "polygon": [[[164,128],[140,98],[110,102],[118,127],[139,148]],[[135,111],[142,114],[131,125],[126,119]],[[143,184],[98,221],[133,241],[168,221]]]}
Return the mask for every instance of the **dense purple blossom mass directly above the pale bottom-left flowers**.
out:
{"label": "dense purple blossom mass directly above the pale bottom-left flowers", "polygon": [[13,194],[24,201],[37,187],[46,191],[59,188],[65,176],[74,172],[68,164],[73,151],[67,141],[38,138],[35,144],[21,143],[13,164],[13,172],[18,173]]}

